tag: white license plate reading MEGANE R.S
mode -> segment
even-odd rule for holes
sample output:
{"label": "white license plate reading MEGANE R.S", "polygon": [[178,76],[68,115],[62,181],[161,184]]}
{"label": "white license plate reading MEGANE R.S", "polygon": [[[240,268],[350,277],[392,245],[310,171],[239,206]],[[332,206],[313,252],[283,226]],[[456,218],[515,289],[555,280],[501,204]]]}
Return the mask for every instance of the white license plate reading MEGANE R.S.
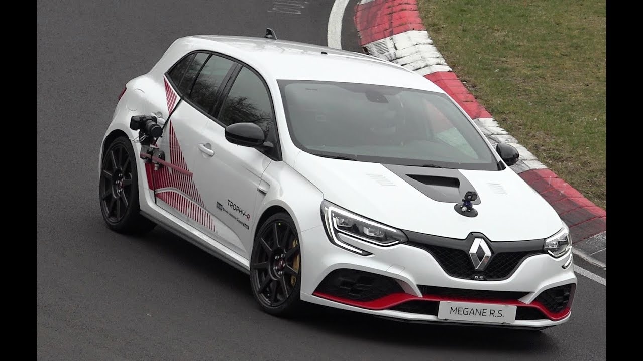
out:
{"label": "white license plate reading MEGANE R.S", "polygon": [[438,318],[445,321],[473,321],[509,324],[516,321],[516,306],[507,304],[440,301],[440,305],[438,306]]}

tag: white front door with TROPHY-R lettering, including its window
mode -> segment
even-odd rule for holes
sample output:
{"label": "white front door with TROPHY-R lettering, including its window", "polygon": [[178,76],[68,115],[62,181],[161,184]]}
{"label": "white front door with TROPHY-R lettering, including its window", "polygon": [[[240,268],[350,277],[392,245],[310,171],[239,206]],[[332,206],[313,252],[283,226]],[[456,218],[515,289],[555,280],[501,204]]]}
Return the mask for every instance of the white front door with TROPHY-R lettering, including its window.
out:
{"label": "white front door with TROPHY-R lettering, including its window", "polygon": [[[216,218],[213,237],[248,258],[253,242],[251,229],[258,218],[255,204],[257,197],[263,197],[261,177],[278,154],[275,115],[263,78],[247,66],[237,66],[224,92],[221,104],[213,111],[213,121],[200,135],[201,154],[195,157],[194,181],[198,188],[211,190],[203,195],[203,203]],[[260,150],[226,141],[224,128],[240,122],[259,125],[275,148]]]}

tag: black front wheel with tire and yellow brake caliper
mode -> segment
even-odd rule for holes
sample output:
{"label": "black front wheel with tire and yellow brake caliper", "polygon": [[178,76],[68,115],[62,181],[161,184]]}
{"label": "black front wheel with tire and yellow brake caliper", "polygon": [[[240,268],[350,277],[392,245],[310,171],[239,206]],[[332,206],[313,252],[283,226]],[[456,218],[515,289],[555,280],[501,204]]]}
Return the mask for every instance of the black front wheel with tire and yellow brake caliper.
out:
{"label": "black front wheel with tire and yellow brake caliper", "polygon": [[293,218],[270,216],[257,231],[250,256],[250,286],[264,312],[292,317],[301,311],[301,260]]}

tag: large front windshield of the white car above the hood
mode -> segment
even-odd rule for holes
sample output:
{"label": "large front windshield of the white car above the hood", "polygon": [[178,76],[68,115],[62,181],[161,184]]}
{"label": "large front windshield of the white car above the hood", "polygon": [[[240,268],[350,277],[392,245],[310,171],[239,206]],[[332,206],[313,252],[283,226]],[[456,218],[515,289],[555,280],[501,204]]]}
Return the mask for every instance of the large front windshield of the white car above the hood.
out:
{"label": "large front windshield of the white car above the hood", "polygon": [[384,85],[279,80],[293,142],[325,157],[498,170],[491,150],[444,94]]}

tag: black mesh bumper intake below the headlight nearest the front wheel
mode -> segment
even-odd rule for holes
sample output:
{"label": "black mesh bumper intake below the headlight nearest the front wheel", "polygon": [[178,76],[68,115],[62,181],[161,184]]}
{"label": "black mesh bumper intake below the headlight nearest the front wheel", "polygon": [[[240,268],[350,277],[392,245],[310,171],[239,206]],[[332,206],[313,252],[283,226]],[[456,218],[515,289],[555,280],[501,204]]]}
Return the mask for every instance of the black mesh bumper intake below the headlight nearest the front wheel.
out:
{"label": "black mesh bumper intake below the headlight nearest the front wheel", "polygon": [[315,292],[351,301],[368,302],[404,290],[391,277],[360,270],[338,269],[329,273]]}

